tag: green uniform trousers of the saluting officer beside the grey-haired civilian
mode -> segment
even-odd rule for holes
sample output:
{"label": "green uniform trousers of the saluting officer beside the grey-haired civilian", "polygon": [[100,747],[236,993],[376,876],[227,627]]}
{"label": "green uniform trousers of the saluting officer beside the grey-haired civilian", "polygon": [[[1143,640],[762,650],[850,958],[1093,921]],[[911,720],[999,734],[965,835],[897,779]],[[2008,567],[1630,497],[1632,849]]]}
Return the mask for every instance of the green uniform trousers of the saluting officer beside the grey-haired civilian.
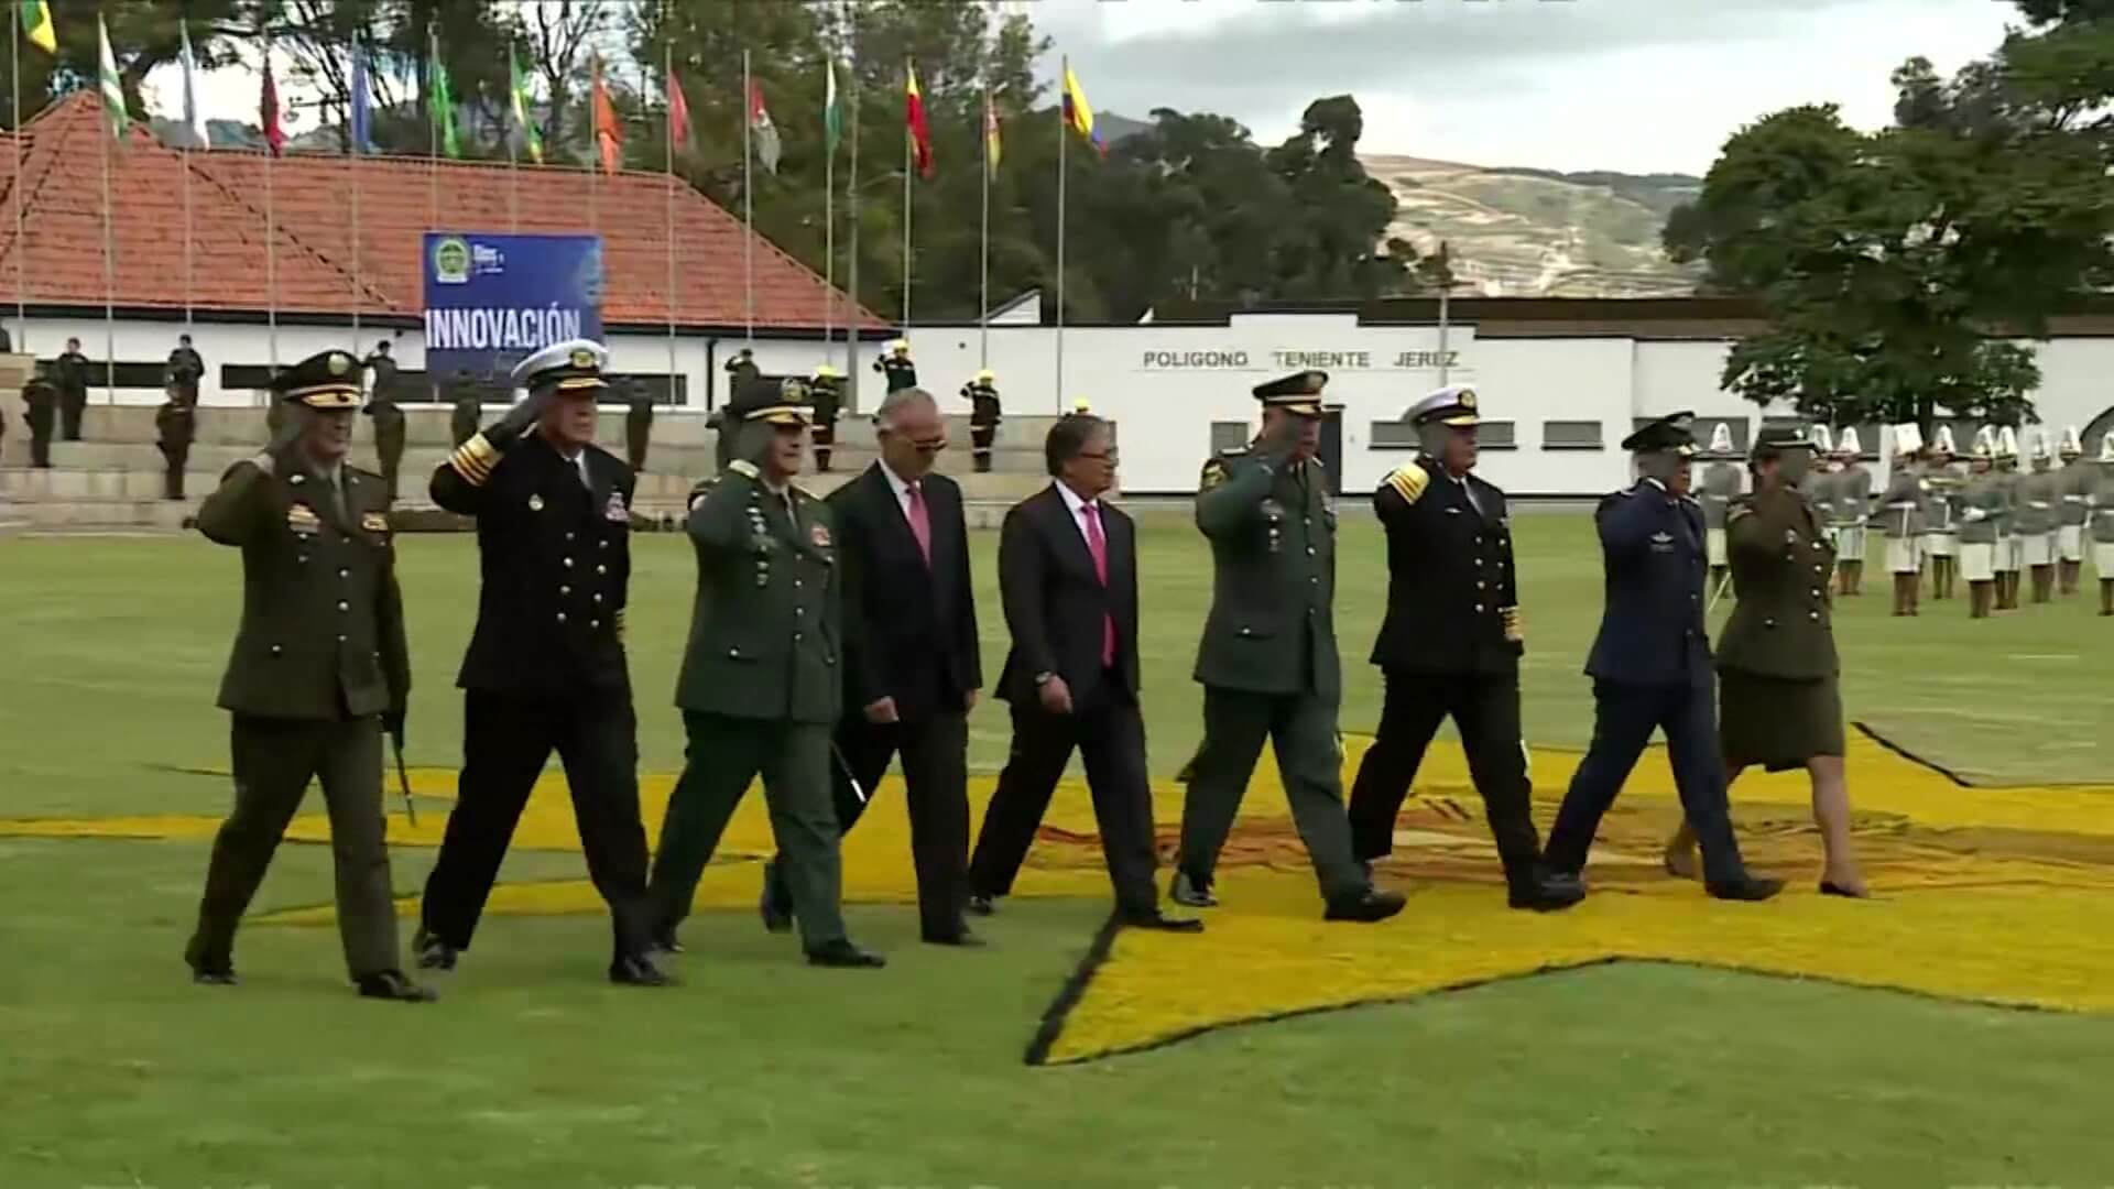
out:
{"label": "green uniform trousers of the saluting officer beside the grey-haired civilian", "polygon": [[689,747],[683,779],[668,800],[647,910],[655,931],[689,916],[727,819],[748,783],[763,774],[780,870],[793,893],[801,946],[810,952],[843,939],[843,867],[837,855],[837,808],[829,800],[829,724],[738,719],[683,711]]}

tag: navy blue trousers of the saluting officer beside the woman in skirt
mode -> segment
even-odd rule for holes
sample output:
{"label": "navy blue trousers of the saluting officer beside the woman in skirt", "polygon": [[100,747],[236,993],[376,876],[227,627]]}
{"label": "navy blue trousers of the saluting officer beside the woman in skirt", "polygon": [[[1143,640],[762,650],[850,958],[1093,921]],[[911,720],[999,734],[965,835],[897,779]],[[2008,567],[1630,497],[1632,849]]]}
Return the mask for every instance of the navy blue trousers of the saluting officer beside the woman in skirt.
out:
{"label": "navy blue trousers of the saluting officer beside the woman in skirt", "polygon": [[1651,732],[1664,730],[1681,810],[1704,848],[1704,878],[1719,882],[1746,876],[1740,842],[1731,836],[1731,808],[1725,802],[1725,760],[1719,755],[1710,681],[1670,685],[1594,681],[1592,696],[1592,747],[1571,774],[1564,808],[1550,827],[1550,867],[1569,874],[1586,870],[1600,815],[1615,804],[1615,793],[1636,768]]}

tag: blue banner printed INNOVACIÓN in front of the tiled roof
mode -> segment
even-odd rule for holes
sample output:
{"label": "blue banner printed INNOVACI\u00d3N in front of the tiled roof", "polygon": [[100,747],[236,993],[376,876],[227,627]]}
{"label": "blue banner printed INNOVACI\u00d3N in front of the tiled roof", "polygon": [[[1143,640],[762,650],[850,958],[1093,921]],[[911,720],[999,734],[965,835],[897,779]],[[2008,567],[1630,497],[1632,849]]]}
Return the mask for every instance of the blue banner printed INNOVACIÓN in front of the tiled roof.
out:
{"label": "blue banner printed INNOVACI\u00d3N in front of the tiled roof", "polygon": [[602,341],[602,237],[425,235],[425,370],[503,379],[567,339]]}

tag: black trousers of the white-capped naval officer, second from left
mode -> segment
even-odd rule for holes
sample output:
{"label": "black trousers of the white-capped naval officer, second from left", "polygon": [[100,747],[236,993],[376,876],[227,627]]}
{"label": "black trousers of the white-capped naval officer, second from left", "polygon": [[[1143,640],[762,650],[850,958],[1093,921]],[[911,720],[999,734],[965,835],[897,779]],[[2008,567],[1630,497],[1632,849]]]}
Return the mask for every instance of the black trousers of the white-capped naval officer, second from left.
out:
{"label": "black trousers of the white-capped naval officer, second from left", "polygon": [[626,690],[560,696],[463,694],[463,776],[425,880],[421,922],[467,950],[514,825],[552,749],[564,762],[588,876],[609,903],[615,954],[647,948],[647,831],[638,821],[638,721]]}

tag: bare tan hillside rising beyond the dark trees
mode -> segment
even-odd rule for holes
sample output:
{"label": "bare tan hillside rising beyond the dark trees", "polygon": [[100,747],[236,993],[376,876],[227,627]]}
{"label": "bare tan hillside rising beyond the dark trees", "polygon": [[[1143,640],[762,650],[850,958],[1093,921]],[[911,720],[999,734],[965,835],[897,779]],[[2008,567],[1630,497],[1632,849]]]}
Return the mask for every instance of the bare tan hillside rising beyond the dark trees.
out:
{"label": "bare tan hillside rising beyond the dark trees", "polygon": [[1700,275],[1666,258],[1666,214],[1691,199],[1683,173],[1556,173],[1361,154],[1399,203],[1391,226],[1418,252],[1452,245],[1465,288],[1490,296],[1664,296]]}

